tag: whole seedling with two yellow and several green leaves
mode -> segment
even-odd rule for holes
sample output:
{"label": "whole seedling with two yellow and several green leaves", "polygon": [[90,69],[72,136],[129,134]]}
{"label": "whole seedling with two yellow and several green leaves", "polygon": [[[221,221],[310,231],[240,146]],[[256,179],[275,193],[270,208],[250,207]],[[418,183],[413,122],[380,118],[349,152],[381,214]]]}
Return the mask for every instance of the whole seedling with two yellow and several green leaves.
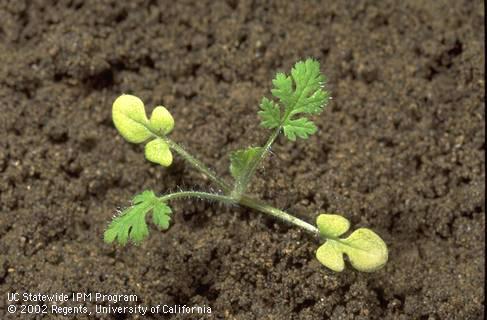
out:
{"label": "whole seedling with two yellow and several green leaves", "polygon": [[172,215],[168,203],[177,199],[198,198],[249,207],[303,229],[322,243],[316,251],[316,258],[334,271],[344,269],[343,254],[359,271],[372,272],[383,267],[388,258],[387,246],[372,230],[360,228],[341,238],[349,230],[350,222],[340,215],[321,213],[315,226],[246,193],[256,169],[281,132],[291,141],[307,139],[316,133],[317,127],[308,117],[323,111],[330,99],[324,89],[325,77],[320,73],[320,65],[313,59],[296,63],[290,75],[277,73],[272,83],[274,99],[262,98],[258,112],[261,125],[272,130],[271,135],[262,147],[249,147],[230,155],[230,173],[234,178],[232,184],[218,177],[203,162],[169,138],[174,119],[166,108],[156,107],[150,119],[147,119],[144,103],[139,98],[132,95],[118,97],[112,109],[115,127],[129,142],[147,142],[147,160],[167,167],[172,163],[172,152],[175,152],[222,191],[178,191],[156,196],[153,191],[146,190],[136,195],[132,205],[113,219],[105,231],[104,240],[107,243],[117,241],[122,245],[129,240],[139,243],[149,234],[146,223],[149,212],[152,212],[154,224],[167,230]]}

